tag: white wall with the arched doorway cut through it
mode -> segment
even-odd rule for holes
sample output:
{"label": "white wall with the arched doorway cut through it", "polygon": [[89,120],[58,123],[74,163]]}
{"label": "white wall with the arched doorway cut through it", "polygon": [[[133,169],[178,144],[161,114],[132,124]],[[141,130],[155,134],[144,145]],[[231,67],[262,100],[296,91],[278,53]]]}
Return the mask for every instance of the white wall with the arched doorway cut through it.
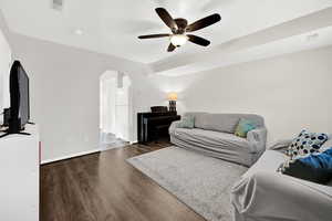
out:
{"label": "white wall with the arched doorway cut through it", "polygon": [[133,83],[132,141],[136,113],[166,97],[148,81],[145,65],[18,34],[12,44],[30,77],[31,120],[40,125],[43,161],[98,148],[100,76],[105,71],[124,72]]}

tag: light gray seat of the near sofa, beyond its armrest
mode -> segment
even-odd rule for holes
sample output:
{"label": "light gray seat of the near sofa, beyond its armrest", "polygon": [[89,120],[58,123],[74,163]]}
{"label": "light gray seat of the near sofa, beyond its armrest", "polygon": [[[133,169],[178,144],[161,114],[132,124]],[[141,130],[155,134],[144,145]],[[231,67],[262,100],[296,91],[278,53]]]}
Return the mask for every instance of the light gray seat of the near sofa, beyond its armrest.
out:
{"label": "light gray seat of the near sofa, beyond its armrest", "polygon": [[257,162],[242,177],[250,177],[258,171],[276,172],[288,157],[277,150],[266,150]]}

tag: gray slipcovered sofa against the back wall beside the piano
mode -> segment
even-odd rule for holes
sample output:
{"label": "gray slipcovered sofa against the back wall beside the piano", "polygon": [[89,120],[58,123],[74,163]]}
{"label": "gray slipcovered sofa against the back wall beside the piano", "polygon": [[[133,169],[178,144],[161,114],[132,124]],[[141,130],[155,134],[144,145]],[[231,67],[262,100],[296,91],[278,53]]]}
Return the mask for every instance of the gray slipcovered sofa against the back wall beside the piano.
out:
{"label": "gray slipcovered sofa against the back wall beside the piano", "polygon": [[[184,116],[193,116],[195,127],[179,128],[178,122],[170,125],[170,141],[178,147],[245,166],[255,164],[266,149],[267,129],[261,116],[209,113],[186,113]],[[234,135],[240,118],[258,125],[247,138]]]}

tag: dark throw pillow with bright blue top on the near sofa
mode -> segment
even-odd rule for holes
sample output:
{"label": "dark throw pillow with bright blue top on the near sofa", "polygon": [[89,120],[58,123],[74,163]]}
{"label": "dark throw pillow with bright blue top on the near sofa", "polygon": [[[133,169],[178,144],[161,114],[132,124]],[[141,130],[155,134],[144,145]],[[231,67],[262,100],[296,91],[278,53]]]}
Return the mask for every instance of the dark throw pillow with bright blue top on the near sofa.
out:
{"label": "dark throw pillow with bright blue top on the near sofa", "polygon": [[279,171],[283,175],[325,185],[332,179],[332,148],[319,155],[287,161]]}

